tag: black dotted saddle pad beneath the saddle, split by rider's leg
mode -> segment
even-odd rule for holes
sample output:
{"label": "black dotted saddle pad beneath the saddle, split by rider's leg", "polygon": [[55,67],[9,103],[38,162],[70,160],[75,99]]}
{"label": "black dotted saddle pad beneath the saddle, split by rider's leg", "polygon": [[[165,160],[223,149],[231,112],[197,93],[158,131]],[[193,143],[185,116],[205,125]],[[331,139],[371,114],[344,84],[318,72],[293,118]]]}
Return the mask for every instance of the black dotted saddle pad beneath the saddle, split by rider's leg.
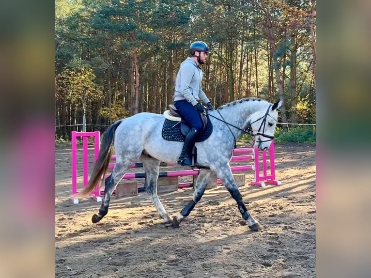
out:
{"label": "black dotted saddle pad beneath the saddle, split by rider's leg", "polygon": [[[202,133],[196,138],[196,142],[202,142],[208,139],[213,132],[213,124],[211,124],[209,116],[207,116],[207,118],[207,125]],[[162,138],[168,141],[184,142],[186,136],[182,134],[180,129],[181,124],[185,123],[165,119],[164,125],[162,126]]]}

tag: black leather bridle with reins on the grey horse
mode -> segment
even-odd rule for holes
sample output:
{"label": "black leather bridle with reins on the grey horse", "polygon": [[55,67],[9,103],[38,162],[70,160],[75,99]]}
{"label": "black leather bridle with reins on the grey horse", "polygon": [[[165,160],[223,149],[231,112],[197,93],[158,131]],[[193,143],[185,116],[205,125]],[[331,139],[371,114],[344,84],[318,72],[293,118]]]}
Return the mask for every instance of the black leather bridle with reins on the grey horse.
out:
{"label": "black leather bridle with reins on the grey horse", "polygon": [[[232,136],[233,136],[233,139],[234,139],[234,148],[236,148],[236,147],[237,147],[236,137],[234,136],[234,134],[233,134],[231,128],[229,127],[229,125],[232,126],[232,127],[234,127],[234,128],[236,128],[236,129],[238,129],[238,130],[240,130],[240,131],[242,131],[242,132],[245,133],[245,134],[248,134],[254,142],[255,142],[255,137],[256,137],[256,136],[263,136],[263,137],[265,137],[265,138],[268,138],[267,140],[259,140],[260,143],[263,143],[263,142],[269,142],[269,141],[272,141],[272,140],[275,138],[274,136],[264,134],[265,124],[266,124],[266,120],[267,120],[267,117],[268,117],[268,116],[271,117],[273,120],[275,120],[275,121],[277,122],[277,120],[276,120],[275,118],[273,118],[271,115],[269,115],[269,110],[271,109],[271,107],[272,107],[272,105],[269,105],[269,107],[268,107],[267,111],[265,112],[264,116],[260,117],[259,119],[255,120],[255,121],[252,122],[252,123],[248,122],[248,123],[247,123],[247,127],[246,127],[245,129],[241,129],[241,128],[239,128],[239,127],[233,125],[233,124],[227,123],[227,122],[224,120],[223,116],[220,114],[220,112],[219,112],[218,109],[216,109],[216,111],[219,113],[219,115],[220,115],[220,117],[222,118],[222,120],[219,119],[219,118],[216,118],[216,117],[213,116],[213,115],[210,115],[209,113],[207,113],[207,114],[208,114],[209,116],[215,118],[216,120],[219,120],[220,122],[223,122],[224,124],[227,125],[227,127],[228,127],[229,130],[231,131]],[[207,111],[207,110],[206,110],[206,111]],[[259,127],[258,132],[254,134],[253,131],[252,131],[252,128],[251,128],[251,124],[254,124],[254,123],[256,123],[256,122],[258,122],[258,121],[260,121],[260,120],[262,120],[262,119],[263,119],[263,121],[262,121],[262,124],[260,124],[260,127]],[[261,132],[262,127],[263,127],[263,132]],[[254,143],[253,143],[253,144],[254,144]]]}

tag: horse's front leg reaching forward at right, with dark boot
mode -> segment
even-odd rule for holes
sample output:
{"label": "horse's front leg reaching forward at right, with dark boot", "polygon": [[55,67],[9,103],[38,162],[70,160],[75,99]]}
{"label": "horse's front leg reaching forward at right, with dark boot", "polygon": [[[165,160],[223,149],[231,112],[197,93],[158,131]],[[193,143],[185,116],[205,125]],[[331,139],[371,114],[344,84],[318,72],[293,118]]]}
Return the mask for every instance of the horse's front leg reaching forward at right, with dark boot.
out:
{"label": "horse's front leg reaching forward at right, with dark boot", "polygon": [[260,224],[256,221],[247,211],[247,208],[242,201],[242,196],[240,190],[233,179],[232,170],[229,166],[220,167],[217,170],[219,179],[223,182],[223,185],[231,193],[232,198],[237,202],[238,209],[241,212],[242,218],[247,221],[248,227],[253,231],[258,231],[260,229]]}

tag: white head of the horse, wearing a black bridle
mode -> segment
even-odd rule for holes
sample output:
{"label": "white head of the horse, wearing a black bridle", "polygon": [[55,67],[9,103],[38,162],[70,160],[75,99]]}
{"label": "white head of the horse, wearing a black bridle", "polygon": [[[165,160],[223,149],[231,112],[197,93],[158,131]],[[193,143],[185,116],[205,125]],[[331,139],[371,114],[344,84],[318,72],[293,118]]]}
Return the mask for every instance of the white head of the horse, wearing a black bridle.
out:
{"label": "white head of the horse, wearing a black bridle", "polygon": [[278,109],[282,101],[269,105],[267,109],[252,113],[248,118],[248,132],[254,139],[254,147],[259,150],[267,150],[274,139]]}

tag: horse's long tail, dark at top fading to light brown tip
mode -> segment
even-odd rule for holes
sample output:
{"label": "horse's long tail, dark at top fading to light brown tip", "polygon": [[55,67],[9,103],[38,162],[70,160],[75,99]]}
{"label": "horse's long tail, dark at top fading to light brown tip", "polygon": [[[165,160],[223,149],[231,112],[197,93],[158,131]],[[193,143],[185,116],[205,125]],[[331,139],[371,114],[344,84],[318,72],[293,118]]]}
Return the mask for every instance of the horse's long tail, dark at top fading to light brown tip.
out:
{"label": "horse's long tail, dark at top fading to light brown tip", "polygon": [[103,139],[100,145],[99,156],[95,162],[92,176],[90,177],[88,185],[71,197],[71,199],[78,199],[86,197],[93,192],[96,184],[99,182],[102,176],[106,174],[109,160],[111,158],[112,144],[115,138],[116,128],[121,124],[123,120],[116,121],[114,124],[108,127],[103,135]]}

